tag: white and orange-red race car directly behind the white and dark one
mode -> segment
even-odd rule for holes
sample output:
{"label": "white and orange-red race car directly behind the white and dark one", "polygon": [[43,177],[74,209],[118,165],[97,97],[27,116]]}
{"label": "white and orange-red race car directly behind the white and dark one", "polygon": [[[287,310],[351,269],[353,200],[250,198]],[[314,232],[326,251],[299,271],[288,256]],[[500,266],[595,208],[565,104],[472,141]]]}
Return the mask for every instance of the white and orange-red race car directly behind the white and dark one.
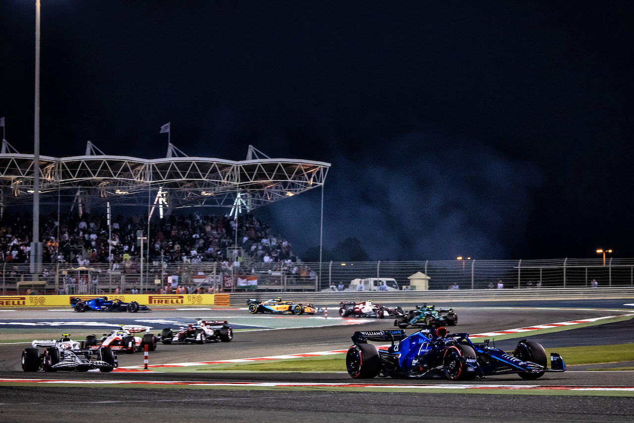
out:
{"label": "white and orange-red race car directly behind the white and dark one", "polygon": [[[143,333],[143,336],[136,336],[137,333]],[[97,339],[95,335],[88,335],[85,346],[91,351],[109,347],[113,351],[133,354],[136,351],[143,351],[145,346],[148,346],[148,351],[154,351],[157,347],[157,337],[150,333],[150,328],[147,326],[121,325],[119,329],[110,332],[110,335],[104,333],[101,339]]]}

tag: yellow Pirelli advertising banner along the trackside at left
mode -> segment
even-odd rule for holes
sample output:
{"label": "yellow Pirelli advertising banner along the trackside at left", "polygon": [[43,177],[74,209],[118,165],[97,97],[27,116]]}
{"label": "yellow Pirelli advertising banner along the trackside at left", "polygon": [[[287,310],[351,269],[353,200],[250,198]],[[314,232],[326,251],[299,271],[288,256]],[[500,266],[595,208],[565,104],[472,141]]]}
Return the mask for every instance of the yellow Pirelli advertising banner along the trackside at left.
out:
{"label": "yellow Pirelli advertising banner along the trackside at left", "polygon": [[108,300],[119,299],[123,302],[136,301],[139,304],[179,307],[181,305],[214,305],[214,294],[136,294],[136,295],[0,295],[0,307],[51,307],[67,305],[70,299],[79,298],[83,301],[95,297],[108,297]]}

